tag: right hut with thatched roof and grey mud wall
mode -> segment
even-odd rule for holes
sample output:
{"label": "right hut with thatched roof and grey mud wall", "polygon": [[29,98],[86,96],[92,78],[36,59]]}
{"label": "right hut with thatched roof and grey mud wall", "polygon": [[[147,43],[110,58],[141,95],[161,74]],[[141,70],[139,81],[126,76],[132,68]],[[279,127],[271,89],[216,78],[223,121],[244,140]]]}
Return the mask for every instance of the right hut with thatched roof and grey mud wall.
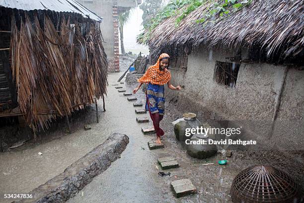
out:
{"label": "right hut with thatched roof and grey mud wall", "polygon": [[152,59],[171,56],[172,83],[185,85],[166,100],[205,120],[247,125],[247,138],[266,148],[303,150],[303,1],[216,2],[182,18],[186,5],[139,36]]}

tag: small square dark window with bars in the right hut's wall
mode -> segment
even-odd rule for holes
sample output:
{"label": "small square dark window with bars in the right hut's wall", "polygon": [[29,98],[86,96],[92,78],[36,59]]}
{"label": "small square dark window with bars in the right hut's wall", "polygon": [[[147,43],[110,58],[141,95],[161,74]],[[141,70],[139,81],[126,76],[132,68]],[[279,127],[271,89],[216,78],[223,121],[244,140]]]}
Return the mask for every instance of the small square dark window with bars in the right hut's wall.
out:
{"label": "small square dark window with bars in the right hut's wall", "polygon": [[214,80],[220,85],[235,88],[240,64],[217,61],[214,71]]}

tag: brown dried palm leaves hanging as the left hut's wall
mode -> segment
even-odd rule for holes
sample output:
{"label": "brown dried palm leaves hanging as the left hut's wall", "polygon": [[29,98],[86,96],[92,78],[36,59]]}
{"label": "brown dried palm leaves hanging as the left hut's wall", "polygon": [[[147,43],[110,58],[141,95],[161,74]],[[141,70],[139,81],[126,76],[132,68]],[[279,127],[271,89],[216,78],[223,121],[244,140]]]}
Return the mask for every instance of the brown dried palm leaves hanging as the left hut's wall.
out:
{"label": "brown dried palm leaves hanging as the left hut's wall", "polygon": [[48,16],[43,29],[37,16],[34,22],[25,16],[20,30],[13,17],[11,27],[11,70],[30,127],[48,128],[56,115],[69,115],[106,95],[106,54],[92,21],[72,26],[63,18],[58,32]]}

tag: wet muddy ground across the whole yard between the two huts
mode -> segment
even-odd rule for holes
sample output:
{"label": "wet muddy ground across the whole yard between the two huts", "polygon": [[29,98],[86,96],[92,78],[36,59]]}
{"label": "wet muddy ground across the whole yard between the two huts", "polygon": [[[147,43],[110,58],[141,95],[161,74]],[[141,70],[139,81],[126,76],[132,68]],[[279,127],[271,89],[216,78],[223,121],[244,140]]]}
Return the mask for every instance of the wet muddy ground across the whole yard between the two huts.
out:
{"label": "wet muddy ground across the whole yard between the two huts", "polygon": [[[81,116],[75,116],[73,122],[75,132],[72,134],[62,136],[65,135],[65,125],[59,124],[60,129],[49,132],[48,142],[29,144],[0,154],[0,163],[3,163],[0,166],[0,191],[7,193],[31,191],[62,173],[67,166],[102,143],[113,132],[127,134],[130,138],[130,143],[121,154],[121,158],[95,177],[68,202],[231,203],[229,191],[233,178],[241,170],[257,164],[274,165],[291,173],[300,183],[303,182],[303,154],[301,156],[298,152],[296,154],[234,152],[231,158],[225,158],[220,153],[205,160],[191,158],[174,136],[171,122],[181,117],[183,113],[182,109],[174,108],[174,103],[166,102],[166,113],[160,122],[165,132],[163,137],[165,148],[149,150],[147,142],[155,139],[155,135],[144,135],[141,128],[152,126],[152,121],[149,113],[135,114],[135,109],[143,107],[134,107],[133,102],[128,102],[127,97],[123,96],[123,93],[118,93],[116,86],[112,86],[119,84],[116,81],[121,75],[122,72],[109,74],[108,97],[105,98],[106,111],[103,112],[102,100],[99,101],[98,124],[95,122],[96,112],[92,105]],[[130,78],[130,75],[128,77]],[[138,76],[132,75],[132,77],[134,79]],[[132,91],[136,85],[136,80],[133,80],[133,83],[125,83],[121,86],[127,91]],[[145,101],[145,95],[141,90],[136,95],[138,101]],[[150,122],[137,123],[137,116],[147,116]],[[84,131],[83,125],[87,123],[91,124],[92,129]],[[52,140],[56,134],[57,136],[60,134],[60,138]],[[39,156],[38,152],[42,152],[43,155]],[[174,156],[180,167],[160,170],[157,158],[164,155]],[[228,160],[228,164],[218,165],[217,162],[224,158]],[[203,165],[205,163],[214,164]],[[290,163],[294,165],[291,166]],[[171,175],[160,177],[157,174],[159,171],[169,171]],[[197,194],[176,199],[170,190],[170,183],[183,178],[191,179],[197,188]]]}

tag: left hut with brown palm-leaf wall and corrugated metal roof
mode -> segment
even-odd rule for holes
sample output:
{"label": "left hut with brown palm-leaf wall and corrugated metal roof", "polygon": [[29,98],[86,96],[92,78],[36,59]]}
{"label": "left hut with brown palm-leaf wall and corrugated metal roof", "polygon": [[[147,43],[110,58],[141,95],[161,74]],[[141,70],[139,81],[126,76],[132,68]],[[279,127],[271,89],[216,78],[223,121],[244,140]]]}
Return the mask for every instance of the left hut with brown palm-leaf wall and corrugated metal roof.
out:
{"label": "left hut with brown palm-leaf wall and corrugated metal roof", "polygon": [[106,95],[102,18],[74,0],[0,0],[0,119],[46,129]]}

